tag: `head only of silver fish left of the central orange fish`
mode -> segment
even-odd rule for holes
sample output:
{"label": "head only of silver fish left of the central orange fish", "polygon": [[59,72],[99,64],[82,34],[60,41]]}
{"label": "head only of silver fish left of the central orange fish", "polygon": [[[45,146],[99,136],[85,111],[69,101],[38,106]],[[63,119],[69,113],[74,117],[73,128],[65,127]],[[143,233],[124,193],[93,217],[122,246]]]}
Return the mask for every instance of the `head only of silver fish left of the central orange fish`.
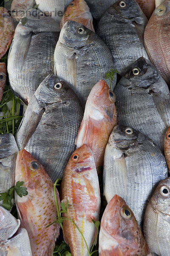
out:
{"label": "head only of silver fish left of the central orange fish", "polygon": [[65,101],[73,98],[74,95],[67,83],[53,74],[48,75],[34,93],[38,102],[45,105],[55,102],[66,104]]}

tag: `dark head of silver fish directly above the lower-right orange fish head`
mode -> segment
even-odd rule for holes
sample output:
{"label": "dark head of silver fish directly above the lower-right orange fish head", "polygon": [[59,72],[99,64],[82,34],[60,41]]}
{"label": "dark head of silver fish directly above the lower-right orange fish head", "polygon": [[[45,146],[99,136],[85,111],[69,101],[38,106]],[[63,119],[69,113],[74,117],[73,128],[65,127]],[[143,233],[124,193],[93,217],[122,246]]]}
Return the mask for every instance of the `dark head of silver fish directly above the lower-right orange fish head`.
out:
{"label": "dark head of silver fish directly above the lower-right orange fish head", "polygon": [[146,139],[144,134],[139,133],[133,128],[123,125],[116,125],[111,132],[109,144],[115,148],[127,150],[142,143]]}

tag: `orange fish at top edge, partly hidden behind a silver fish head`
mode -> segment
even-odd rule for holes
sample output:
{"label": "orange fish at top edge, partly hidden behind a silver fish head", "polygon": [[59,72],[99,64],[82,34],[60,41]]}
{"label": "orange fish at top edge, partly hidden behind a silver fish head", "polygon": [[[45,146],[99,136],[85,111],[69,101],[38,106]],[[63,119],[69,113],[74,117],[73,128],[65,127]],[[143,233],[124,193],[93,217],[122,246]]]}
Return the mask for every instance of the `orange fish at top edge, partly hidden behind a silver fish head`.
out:
{"label": "orange fish at top edge, partly hidden behind a silver fish head", "polygon": [[77,21],[95,32],[93,26],[93,17],[87,3],[84,0],[74,0],[68,5],[60,22],[61,29],[67,20]]}

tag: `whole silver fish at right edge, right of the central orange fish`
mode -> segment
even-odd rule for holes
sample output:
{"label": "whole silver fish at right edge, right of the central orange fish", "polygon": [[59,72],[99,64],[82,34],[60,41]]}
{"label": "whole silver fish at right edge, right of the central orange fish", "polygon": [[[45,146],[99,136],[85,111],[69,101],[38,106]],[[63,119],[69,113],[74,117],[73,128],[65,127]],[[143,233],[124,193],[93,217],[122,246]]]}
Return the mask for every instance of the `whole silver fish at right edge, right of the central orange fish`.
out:
{"label": "whole silver fish at right edge, right of the central orange fish", "polygon": [[170,126],[170,91],[153,64],[139,58],[114,93],[118,123],[147,135],[163,151],[164,135]]}

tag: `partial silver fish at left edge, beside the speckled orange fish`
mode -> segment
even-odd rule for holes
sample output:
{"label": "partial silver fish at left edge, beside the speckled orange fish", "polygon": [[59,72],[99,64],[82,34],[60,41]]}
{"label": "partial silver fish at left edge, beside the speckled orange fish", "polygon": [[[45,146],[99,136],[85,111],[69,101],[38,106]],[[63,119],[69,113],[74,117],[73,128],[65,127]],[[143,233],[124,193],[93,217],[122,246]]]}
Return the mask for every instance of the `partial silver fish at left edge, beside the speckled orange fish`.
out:
{"label": "partial silver fish at left edge, beside the speckled orange fish", "polygon": [[[0,134],[0,193],[6,193],[15,184],[15,162],[18,152],[12,134]],[[3,201],[0,201],[0,205]]]}

